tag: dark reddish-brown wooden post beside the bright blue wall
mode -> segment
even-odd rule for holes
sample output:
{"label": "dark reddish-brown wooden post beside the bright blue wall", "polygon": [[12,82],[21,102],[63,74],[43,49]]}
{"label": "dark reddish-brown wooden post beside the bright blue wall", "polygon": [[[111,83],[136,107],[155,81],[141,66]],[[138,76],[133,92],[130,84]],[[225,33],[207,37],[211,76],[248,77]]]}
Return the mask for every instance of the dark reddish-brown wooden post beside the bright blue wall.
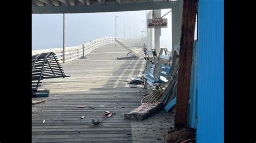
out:
{"label": "dark reddish-brown wooden post beside the bright blue wall", "polygon": [[181,20],[177,103],[174,127],[187,126],[190,76],[198,0],[184,0]]}

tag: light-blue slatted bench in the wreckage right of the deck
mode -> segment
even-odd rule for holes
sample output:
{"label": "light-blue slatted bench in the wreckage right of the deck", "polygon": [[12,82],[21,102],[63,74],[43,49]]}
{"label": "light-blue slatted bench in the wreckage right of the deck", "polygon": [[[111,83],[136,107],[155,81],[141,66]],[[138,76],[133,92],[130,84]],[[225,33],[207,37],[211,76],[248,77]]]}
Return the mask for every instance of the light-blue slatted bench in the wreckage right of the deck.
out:
{"label": "light-blue slatted bench in the wreckage right of the deck", "polygon": [[[142,76],[145,78],[145,83],[150,84],[152,87],[158,89],[161,83],[167,82],[169,80],[169,75],[171,73],[172,66],[169,64],[161,64],[157,79],[153,76],[154,64],[151,64],[149,73],[143,74]],[[144,83],[144,87],[145,87]]]}

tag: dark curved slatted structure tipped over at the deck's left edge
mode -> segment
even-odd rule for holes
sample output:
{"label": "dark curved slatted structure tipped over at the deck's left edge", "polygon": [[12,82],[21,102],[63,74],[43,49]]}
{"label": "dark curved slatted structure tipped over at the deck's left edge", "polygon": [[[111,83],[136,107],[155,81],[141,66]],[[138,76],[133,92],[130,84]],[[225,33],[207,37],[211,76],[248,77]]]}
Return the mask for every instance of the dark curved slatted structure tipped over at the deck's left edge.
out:
{"label": "dark curved slatted structure tipped over at the deck's left edge", "polygon": [[56,54],[53,52],[33,55],[31,61],[32,97],[48,97],[49,90],[38,89],[41,87],[43,79],[70,76],[64,73]]}

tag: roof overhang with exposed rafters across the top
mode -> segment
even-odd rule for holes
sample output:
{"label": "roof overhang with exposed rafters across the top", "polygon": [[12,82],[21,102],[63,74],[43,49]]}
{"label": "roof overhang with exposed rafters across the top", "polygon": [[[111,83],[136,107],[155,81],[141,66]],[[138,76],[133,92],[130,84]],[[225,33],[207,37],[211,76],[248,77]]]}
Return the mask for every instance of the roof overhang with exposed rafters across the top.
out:
{"label": "roof overhang with exposed rafters across the top", "polygon": [[165,0],[32,0],[32,14],[137,11],[176,6],[178,1]]}

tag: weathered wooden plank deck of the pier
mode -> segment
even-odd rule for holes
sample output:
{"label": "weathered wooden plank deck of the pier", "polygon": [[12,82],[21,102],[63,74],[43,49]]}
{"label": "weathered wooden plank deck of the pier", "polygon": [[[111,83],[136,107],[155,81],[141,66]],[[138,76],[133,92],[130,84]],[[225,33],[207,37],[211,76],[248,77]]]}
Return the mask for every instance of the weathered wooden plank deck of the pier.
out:
{"label": "weathered wooden plank deck of the pier", "polygon": [[[124,44],[138,42],[126,40]],[[136,85],[126,83],[141,75],[145,64],[144,59],[117,60],[127,53],[120,45],[105,45],[86,59],[62,64],[71,77],[43,80],[42,88],[49,89],[50,96],[45,103],[32,105],[32,142],[163,142],[163,135],[173,127],[172,113],[160,110],[143,121],[123,117],[146,94],[142,86],[131,88]],[[116,115],[93,125],[91,119],[102,120],[105,111]]]}

